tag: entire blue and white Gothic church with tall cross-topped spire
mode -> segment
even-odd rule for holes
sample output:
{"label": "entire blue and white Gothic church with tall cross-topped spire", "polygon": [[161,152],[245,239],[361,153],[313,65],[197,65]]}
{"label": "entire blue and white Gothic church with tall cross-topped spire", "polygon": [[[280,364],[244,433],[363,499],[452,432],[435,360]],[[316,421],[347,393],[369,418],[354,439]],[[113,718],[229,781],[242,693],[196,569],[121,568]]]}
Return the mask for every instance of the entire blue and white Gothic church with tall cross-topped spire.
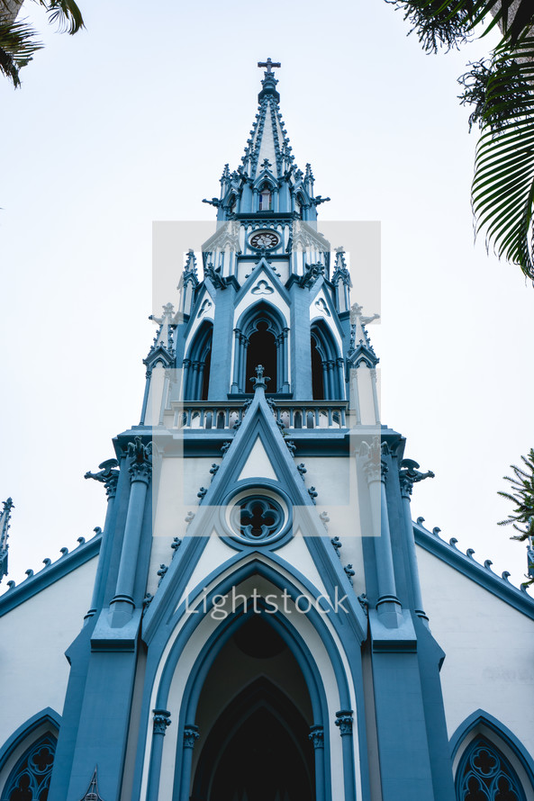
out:
{"label": "entire blue and white Gothic church with tall cross-topped spire", "polygon": [[140,423],[86,473],[104,527],[0,597],[0,801],[534,801],[534,600],[414,522],[433,473],[259,66]]}

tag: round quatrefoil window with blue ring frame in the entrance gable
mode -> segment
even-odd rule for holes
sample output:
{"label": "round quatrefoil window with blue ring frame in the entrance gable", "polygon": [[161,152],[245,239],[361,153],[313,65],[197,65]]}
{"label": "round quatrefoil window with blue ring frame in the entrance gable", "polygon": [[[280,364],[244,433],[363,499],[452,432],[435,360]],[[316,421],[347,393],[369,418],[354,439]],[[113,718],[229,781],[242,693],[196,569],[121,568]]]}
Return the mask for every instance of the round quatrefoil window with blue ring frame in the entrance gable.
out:
{"label": "round quatrefoil window with blue ring frame in the entrance gable", "polygon": [[291,501],[278,487],[233,491],[222,504],[222,539],[236,547],[278,547],[291,536]]}

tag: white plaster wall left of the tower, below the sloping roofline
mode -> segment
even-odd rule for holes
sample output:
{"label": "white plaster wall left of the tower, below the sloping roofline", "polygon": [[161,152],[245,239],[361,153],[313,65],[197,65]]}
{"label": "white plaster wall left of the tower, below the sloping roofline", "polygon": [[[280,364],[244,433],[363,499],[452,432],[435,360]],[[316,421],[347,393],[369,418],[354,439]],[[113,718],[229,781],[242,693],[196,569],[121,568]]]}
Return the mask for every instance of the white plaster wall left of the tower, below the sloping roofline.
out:
{"label": "white plaster wall left of the tower, below the sloping roofline", "polygon": [[1,618],[0,743],[45,707],[62,714],[69,671],[65,651],[90,607],[96,563],[97,557]]}

